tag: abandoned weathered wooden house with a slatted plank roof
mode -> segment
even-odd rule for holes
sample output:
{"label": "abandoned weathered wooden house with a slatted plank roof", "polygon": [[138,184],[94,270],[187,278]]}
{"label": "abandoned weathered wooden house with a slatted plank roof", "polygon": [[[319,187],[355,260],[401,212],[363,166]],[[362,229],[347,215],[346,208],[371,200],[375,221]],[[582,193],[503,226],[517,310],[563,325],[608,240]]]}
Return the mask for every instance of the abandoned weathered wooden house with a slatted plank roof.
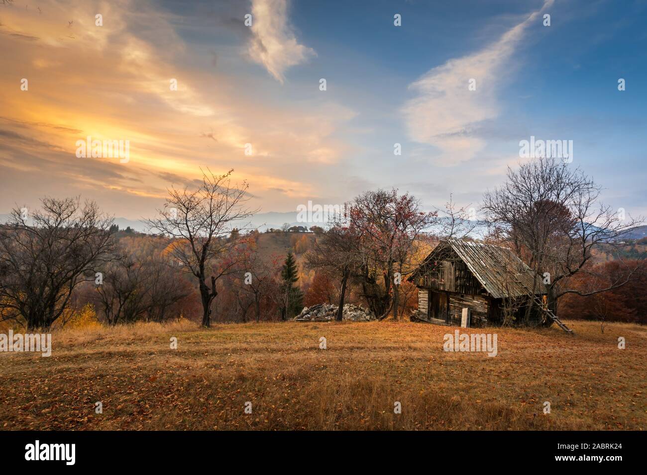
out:
{"label": "abandoned weathered wooden house with a slatted plank roof", "polygon": [[408,280],[418,288],[414,321],[460,326],[463,309],[468,308],[468,326],[535,326],[553,320],[562,326],[545,307],[542,280],[501,246],[442,240]]}

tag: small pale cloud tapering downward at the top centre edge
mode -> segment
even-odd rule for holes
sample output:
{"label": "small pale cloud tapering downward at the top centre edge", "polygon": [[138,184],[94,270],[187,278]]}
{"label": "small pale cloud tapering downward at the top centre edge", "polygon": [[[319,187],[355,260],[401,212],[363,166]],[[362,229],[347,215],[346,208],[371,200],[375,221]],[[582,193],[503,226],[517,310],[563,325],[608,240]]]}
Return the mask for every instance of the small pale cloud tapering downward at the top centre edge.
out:
{"label": "small pale cloud tapering downward at the top centre edge", "polygon": [[287,21],[287,0],[252,1],[249,54],[283,84],[285,70],[316,54],[300,45]]}

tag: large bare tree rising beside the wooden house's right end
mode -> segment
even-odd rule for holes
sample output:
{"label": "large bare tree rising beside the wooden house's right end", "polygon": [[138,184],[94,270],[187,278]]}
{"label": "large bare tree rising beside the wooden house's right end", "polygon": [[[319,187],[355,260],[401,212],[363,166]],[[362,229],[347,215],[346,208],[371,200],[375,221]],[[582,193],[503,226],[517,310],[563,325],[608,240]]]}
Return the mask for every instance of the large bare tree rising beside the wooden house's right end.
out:
{"label": "large bare tree rising beside the wooden house's right end", "polygon": [[[636,264],[622,279],[588,291],[569,284],[574,276],[590,272],[588,264],[595,249],[619,248],[622,235],[643,221],[642,217],[624,218],[600,203],[600,190],[580,169],[554,158],[538,158],[516,170],[509,168],[505,184],[485,193],[483,210],[496,234],[509,241],[534,271],[535,286],[529,295],[543,281],[548,289],[547,306],[555,313],[558,299],[567,293],[593,295],[613,290],[641,271],[641,264]],[[530,311],[528,306],[526,318]]]}

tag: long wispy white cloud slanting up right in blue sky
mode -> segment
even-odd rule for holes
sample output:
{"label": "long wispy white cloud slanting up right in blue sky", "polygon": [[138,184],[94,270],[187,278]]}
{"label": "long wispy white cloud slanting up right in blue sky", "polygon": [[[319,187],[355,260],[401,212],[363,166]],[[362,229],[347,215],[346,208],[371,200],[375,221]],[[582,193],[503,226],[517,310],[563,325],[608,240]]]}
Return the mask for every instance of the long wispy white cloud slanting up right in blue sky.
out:
{"label": "long wispy white cloud slanting up right in blue sky", "polygon": [[[514,26],[498,41],[463,58],[450,59],[410,85],[417,97],[402,108],[411,140],[440,149],[439,164],[457,164],[474,158],[487,145],[479,134],[484,121],[498,117],[498,87],[509,76],[511,59],[527,26],[541,21],[542,8]],[[470,79],[476,90],[469,90]]]}

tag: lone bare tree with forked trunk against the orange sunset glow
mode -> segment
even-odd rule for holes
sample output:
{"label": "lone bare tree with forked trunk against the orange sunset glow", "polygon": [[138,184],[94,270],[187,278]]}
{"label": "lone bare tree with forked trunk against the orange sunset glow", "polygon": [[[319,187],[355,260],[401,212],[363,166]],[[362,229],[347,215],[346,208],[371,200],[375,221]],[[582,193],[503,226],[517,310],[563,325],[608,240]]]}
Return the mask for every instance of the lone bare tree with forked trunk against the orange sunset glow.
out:
{"label": "lone bare tree with forked trunk against the orange sunset glow", "polygon": [[[160,217],[146,220],[149,229],[175,238],[171,253],[198,281],[205,327],[210,326],[211,304],[218,295],[216,280],[236,271],[239,263],[232,257],[237,240],[227,237],[234,227],[247,229],[241,228],[241,222],[256,212],[245,206],[247,182],[232,185],[232,173],[230,170],[214,175],[203,171],[203,182],[195,191],[171,187]],[[210,266],[214,263],[215,269]]]}

